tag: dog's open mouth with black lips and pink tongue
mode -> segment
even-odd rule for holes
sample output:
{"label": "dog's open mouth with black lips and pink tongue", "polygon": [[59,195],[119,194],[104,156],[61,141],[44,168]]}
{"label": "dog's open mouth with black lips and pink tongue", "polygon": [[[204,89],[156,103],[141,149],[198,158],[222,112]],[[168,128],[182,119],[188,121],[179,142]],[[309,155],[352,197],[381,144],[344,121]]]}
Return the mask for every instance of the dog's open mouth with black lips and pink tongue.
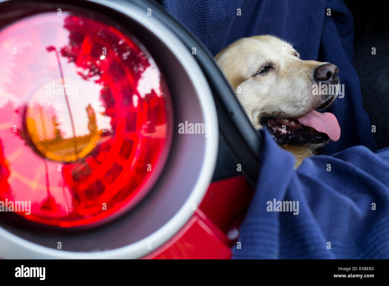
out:
{"label": "dog's open mouth with black lips and pink tongue", "polygon": [[[328,105],[324,102],[318,109]],[[312,110],[300,118],[265,117],[260,119],[260,123],[279,144],[317,146],[324,144],[328,139],[337,141],[340,138],[338,120],[330,112],[320,113]]]}

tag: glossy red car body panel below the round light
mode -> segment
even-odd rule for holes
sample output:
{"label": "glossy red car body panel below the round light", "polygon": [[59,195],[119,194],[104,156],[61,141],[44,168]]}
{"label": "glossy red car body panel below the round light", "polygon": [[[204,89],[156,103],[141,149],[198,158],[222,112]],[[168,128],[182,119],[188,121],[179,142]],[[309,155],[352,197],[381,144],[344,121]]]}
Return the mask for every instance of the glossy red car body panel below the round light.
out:
{"label": "glossy red car body panel below the round light", "polygon": [[253,190],[245,177],[212,182],[193,217],[172,239],[145,259],[228,259],[236,230],[244,218]]}

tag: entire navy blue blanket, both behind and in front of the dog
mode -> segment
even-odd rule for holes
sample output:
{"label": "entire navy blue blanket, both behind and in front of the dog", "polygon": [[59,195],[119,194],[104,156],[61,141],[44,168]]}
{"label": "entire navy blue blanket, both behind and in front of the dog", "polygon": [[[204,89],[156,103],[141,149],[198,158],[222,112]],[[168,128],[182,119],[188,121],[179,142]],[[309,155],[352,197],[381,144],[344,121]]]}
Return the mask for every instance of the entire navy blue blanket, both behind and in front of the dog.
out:
{"label": "entire navy blue blanket, both behind and in front of the dog", "polygon": [[261,130],[258,186],[240,230],[240,248],[233,247],[234,258],[389,258],[389,149],[373,153],[377,147],[352,67],[353,18],[345,4],[161,2],[213,54],[241,37],[272,34],[293,43],[303,60],[337,65],[345,87],[344,97],[327,110],[338,119],[340,140],[298,170],[293,169],[293,156]]}

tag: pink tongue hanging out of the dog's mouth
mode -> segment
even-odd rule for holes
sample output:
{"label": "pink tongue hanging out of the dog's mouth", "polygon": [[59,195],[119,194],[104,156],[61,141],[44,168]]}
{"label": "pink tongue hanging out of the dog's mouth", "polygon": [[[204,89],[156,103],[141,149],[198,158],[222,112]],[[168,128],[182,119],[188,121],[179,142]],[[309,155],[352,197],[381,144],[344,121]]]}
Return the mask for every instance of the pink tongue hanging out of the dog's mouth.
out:
{"label": "pink tongue hanging out of the dog's mouth", "polygon": [[326,133],[332,141],[338,141],[340,138],[340,126],[335,115],[330,112],[320,113],[312,110],[307,115],[298,118],[302,125],[312,127],[315,130]]}

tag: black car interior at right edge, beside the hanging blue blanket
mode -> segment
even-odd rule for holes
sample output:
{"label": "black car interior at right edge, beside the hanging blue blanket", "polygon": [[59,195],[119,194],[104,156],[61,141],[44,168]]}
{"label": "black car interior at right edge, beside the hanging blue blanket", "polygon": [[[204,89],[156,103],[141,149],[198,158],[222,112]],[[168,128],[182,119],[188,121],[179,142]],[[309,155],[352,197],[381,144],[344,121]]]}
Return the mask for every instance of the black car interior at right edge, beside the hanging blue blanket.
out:
{"label": "black car interior at right edge, beside the hanging blue blanket", "polygon": [[[389,105],[389,23],[385,9],[377,5],[360,5],[345,0],[354,16],[354,67],[361,83],[363,106],[370,117],[371,125],[378,130],[388,130]],[[375,47],[376,54],[372,54]],[[378,149],[389,146],[389,137],[385,132],[374,133]]]}

